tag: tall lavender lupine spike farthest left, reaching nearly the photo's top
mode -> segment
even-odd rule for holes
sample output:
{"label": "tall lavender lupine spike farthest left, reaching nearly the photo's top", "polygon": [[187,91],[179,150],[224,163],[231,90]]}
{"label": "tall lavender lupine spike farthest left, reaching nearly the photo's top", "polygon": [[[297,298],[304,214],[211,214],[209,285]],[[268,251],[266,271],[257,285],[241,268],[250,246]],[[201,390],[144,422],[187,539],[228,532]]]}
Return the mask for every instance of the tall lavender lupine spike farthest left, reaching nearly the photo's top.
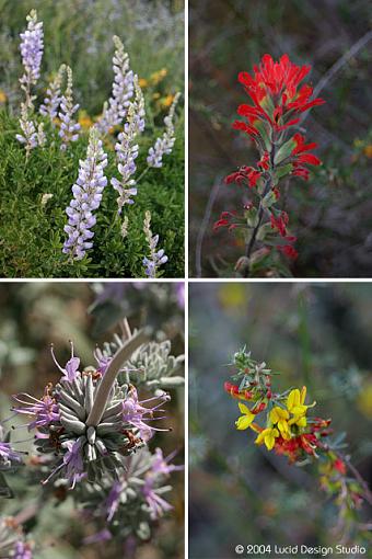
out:
{"label": "tall lavender lupine spike farthest left, reaching nearly the photo's top", "polygon": [[31,10],[27,15],[27,28],[21,33],[21,55],[24,67],[24,75],[20,79],[21,88],[25,92],[25,102],[21,103],[20,126],[22,134],[16,134],[15,138],[24,145],[26,150],[26,160],[32,149],[45,144],[45,134],[43,123],[37,127],[32,119],[34,111],[31,88],[35,85],[40,76],[40,65],[43,58],[43,22],[37,21],[36,10]]}

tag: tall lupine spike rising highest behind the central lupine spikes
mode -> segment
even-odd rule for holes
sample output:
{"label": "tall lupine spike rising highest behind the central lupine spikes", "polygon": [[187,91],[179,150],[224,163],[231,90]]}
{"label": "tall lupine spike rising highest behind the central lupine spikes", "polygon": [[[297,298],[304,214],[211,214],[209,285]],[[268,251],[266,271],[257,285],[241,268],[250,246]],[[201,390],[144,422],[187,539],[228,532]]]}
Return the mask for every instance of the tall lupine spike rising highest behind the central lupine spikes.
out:
{"label": "tall lupine spike rising highest behind the central lupine spikes", "polygon": [[112,96],[103,106],[102,117],[97,127],[107,134],[114,126],[120,125],[126,117],[130,100],[133,95],[133,72],[129,69],[129,56],[124,50],[119,37],[113,37],[116,50],[113,58],[115,73]]}

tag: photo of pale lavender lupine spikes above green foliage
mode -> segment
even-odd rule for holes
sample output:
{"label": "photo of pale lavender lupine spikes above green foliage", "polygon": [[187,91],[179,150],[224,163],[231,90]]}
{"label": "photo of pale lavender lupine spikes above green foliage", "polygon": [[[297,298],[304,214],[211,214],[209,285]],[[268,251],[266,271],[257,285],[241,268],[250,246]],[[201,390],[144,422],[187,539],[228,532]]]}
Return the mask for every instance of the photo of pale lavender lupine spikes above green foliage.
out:
{"label": "photo of pale lavender lupine spikes above green foliage", "polygon": [[0,10],[0,276],[184,277],[184,1]]}

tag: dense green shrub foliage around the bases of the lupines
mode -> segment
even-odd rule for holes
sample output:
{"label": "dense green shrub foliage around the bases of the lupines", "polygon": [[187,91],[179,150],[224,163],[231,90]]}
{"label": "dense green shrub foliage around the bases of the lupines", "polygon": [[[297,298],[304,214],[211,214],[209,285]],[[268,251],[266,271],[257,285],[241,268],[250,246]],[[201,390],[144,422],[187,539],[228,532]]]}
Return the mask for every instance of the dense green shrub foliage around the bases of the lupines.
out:
{"label": "dense green shrub foliage around the bases of the lupines", "polygon": [[[0,112],[0,274],[4,277],[143,277],[142,259],[149,249],[142,227],[144,212],[150,210],[152,231],[160,236],[159,247],[168,256],[159,275],[183,276],[183,123],[178,121],[176,125],[177,139],[172,155],[164,157],[163,168],[149,169],[138,184],[135,204],[124,209],[121,220],[116,219],[117,193],[109,184],[112,176],[118,176],[114,138],[105,140],[108,184],[95,213],[94,247],[83,260],[73,263],[62,253],[65,209],[72,197],[79,160],[85,158],[88,135],[82,135],[63,153],[57,132],[47,124],[45,127],[46,146],[32,150],[26,162],[24,148],[15,139],[18,118]],[[146,132],[141,138],[139,172],[147,164],[150,145],[161,134],[159,128],[151,135]],[[45,205],[44,194],[53,194]],[[129,219],[125,239],[120,233],[124,216]]]}

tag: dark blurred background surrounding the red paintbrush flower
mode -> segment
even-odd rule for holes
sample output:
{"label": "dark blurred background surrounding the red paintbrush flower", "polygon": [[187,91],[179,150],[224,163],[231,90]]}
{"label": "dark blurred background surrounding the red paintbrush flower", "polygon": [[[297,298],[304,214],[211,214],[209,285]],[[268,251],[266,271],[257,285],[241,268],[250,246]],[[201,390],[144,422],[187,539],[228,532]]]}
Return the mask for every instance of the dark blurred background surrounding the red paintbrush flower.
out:
{"label": "dark blurred background surrounding the red paintbrush flower", "polygon": [[[247,95],[237,73],[252,71],[265,53],[288,53],[312,65],[314,87],[371,28],[371,2],[358,0],[190,0],[189,9],[189,262],[194,276],[231,276],[244,248],[213,224],[247,193],[223,178],[257,152],[233,130]],[[371,39],[341,65],[321,92],[326,104],[304,123],[323,160],[309,183],[281,183],[280,206],[290,216],[300,258],[298,277],[370,277],[372,274]],[[365,41],[367,41],[365,38]],[[230,264],[230,265],[229,265]]]}

